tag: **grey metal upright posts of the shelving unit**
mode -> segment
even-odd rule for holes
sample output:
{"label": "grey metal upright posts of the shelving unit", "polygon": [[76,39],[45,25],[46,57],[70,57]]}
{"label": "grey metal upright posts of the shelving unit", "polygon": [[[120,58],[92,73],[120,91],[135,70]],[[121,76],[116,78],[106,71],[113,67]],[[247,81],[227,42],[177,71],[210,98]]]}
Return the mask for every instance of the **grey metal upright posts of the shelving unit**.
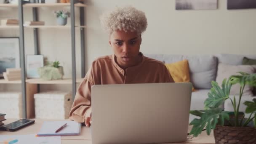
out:
{"label": "grey metal upright posts of the shelving unit", "polygon": [[[37,0],[33,2],[36,3]],[[75,60],[75,2],[70,1],[70,13],[71,13],[71,56],[72,56],[72,96],[75,99],[76,93],[76,60]],[[19,13],[19,43],[20,43],[20,61],[21,61],[21,90],[22,90],[22,112],[23,117],[27,118],[27,103],[26,103],[26,65],[25,65],[25,49],[24,49],[24,26],[23,26],[23,7],[24,4],[19,0],[18,13]],[[84,12],[85,7],[80,8],[80,25],[84,26]],[[38,20],[38,9],[37,7],[32,8],[33,21]],[[38,28],[34,30],[34,45],[35,55],[40,54],[39,40],[38,40]],[[80,42],[81,42],[81,77],[85,77],[85,27],[80,27]],[[39,85],[37,85],[39,90]]]}

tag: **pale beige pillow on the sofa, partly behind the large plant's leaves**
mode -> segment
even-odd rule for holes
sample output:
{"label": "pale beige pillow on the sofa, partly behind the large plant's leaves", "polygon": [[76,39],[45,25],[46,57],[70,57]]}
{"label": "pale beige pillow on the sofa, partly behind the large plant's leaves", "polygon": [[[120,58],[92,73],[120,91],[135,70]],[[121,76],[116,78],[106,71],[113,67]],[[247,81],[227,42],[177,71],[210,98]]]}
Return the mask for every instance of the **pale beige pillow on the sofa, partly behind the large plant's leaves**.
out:
{"label": "pale beige pillow on the sofa, partly behind the large plant's leaves", "polygon": [[[254,72],[254,68],[251,65],[229,65],[219,63],[216,82],[221,85],[224,78],[229,78],[231,75],[240,75],[237,72],[246,72],[252,74]],[[252,87],[248,85],[245,86],[243,91],[243,96],[252,96]],[[239,95],[240,85],[235,84],[232,85],[230,90],[230,95]]]}

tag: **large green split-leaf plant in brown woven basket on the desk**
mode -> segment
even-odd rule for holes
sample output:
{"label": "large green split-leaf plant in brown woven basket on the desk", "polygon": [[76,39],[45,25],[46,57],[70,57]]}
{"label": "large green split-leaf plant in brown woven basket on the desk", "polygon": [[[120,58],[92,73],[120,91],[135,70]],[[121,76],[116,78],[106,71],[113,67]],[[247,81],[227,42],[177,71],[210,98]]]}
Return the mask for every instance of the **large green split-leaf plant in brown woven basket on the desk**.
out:
{"label": "large green split-leaf plant in brown woven basket on the desk", "polygon": [[[256,87],[256,73],[248,74],[239,72],[240,75],[232,75],[224,79],[221,87],[215,81],[211,82],[212,88],[205,100],[204,110],[193,110],[190,114],[200,117],[195,118],[189,125],[193,125],[189,134],[198,136],[203,129],[210,135],[213,129],[216,144],[256,144],[256,98],[245,101],[247,106],[245,113],[250,114],[245,118],[243,112],[239,112],[241,97],[245,85]],[[229,92],[232,85],[240,84],[239,99],[230,98]],[[225,100],[230,100],[234,112],[225,112],[221,106]],[[238,101],[238,104],[237,104]]]}

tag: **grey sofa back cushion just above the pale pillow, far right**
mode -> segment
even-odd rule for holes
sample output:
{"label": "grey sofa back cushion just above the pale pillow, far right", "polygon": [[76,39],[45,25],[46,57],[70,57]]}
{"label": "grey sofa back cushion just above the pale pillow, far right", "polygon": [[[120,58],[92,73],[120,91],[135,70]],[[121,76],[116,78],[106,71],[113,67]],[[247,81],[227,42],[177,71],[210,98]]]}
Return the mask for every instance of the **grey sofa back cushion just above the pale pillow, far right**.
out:
{"label": "grey sofa back cushion just above the pale pillow, far right", "polygon": [[216,57],[219,60],[219,63],[240,65],[243,62],[244,57],[250,59],[256,59],[255,55],[237,55],[237,54],[217,54]]}

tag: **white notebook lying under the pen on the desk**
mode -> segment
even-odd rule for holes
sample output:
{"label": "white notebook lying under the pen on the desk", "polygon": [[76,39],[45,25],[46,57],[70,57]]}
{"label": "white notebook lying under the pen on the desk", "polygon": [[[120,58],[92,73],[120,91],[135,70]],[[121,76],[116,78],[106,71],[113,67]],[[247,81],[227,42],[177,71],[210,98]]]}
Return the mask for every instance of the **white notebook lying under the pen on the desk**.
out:
{"label": "white notebook lying under the pen on the desk", "polygon": [[[55,133],[62,125],[67,123],[61,131]],[[63,136],[63,135],[78,135],[81,132],[81,123],[75,121],[46,121],[43,123],[37,136]]]}

